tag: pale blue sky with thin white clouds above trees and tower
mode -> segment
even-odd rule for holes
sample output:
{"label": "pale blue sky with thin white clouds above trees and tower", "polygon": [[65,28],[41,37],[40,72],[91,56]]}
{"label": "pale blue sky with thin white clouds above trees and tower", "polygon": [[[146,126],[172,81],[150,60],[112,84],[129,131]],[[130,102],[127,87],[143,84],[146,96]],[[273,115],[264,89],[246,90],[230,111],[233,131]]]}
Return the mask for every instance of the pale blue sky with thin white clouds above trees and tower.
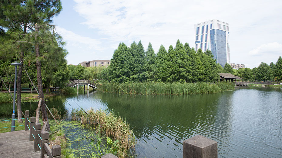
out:
{"label": "pale blue sky with thin white clouds above trees and tower", "polygon": [[155,53],[182,44],[195,47],[194,24],[218,19],[230,30],[230,63],[253,68],[282,56],[282,1],[61,0],[53,18],[66,42],[68,64],[110,60],[119,43],[149,42]]}

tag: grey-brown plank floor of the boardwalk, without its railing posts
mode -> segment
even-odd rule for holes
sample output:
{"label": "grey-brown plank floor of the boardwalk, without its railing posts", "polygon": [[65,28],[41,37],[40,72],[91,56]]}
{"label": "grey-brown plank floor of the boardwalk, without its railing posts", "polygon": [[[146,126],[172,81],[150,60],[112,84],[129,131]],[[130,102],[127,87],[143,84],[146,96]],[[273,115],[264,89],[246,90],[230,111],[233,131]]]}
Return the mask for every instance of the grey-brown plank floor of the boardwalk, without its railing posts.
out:
{"label": "grey-brown plank floor of the boardwalk, without its railing posts", "polygon": [[34,152],[33,148],[34,141],[29,141],[29,131],[0,133],[0,157],[40,157],[40,151]]}

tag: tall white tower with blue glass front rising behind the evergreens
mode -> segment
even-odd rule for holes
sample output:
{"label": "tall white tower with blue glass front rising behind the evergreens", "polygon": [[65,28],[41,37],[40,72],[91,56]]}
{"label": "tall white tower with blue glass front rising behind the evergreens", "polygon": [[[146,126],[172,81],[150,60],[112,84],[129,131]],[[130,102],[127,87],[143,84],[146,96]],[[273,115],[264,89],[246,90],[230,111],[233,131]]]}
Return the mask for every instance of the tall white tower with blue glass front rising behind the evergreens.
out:
{"label": "tall white tower with blue glass front rising behind the evergreens", "polygon": [[230,64],[229,24],[217,19],[195,24],[195,48],[211,50],[222,67]]}

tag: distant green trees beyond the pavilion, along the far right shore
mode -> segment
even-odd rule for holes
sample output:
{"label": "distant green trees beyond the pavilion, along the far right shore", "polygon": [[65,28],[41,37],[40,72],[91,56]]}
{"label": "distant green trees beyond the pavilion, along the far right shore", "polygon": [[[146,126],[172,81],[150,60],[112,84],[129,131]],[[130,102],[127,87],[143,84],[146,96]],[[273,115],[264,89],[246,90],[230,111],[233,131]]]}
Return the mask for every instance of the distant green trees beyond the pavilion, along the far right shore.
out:
{"label": "distant green trees beyond the pavilion, along the far right shore", "polygon": [[258,67],[232,69],[232,67],[226,63],[221,73],[232,73],[235,76],[239,76],[247,81],[274,81],[281,82],[282,79],[282,58],[278,57],[277,62],[273,62],[268,65],[261,62]]}

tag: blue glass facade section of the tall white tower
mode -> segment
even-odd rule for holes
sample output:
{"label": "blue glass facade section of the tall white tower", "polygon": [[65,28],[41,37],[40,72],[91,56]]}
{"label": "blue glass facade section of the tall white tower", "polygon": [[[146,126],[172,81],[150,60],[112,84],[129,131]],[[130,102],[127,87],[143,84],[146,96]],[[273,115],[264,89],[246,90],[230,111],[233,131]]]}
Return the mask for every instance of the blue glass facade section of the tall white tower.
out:
{"label": "blue glass facade section of the tall white tower", "polygon": [[217,63],[224,67],[227,62],[225,31],[218,29],[210,30],[210,50]]}

